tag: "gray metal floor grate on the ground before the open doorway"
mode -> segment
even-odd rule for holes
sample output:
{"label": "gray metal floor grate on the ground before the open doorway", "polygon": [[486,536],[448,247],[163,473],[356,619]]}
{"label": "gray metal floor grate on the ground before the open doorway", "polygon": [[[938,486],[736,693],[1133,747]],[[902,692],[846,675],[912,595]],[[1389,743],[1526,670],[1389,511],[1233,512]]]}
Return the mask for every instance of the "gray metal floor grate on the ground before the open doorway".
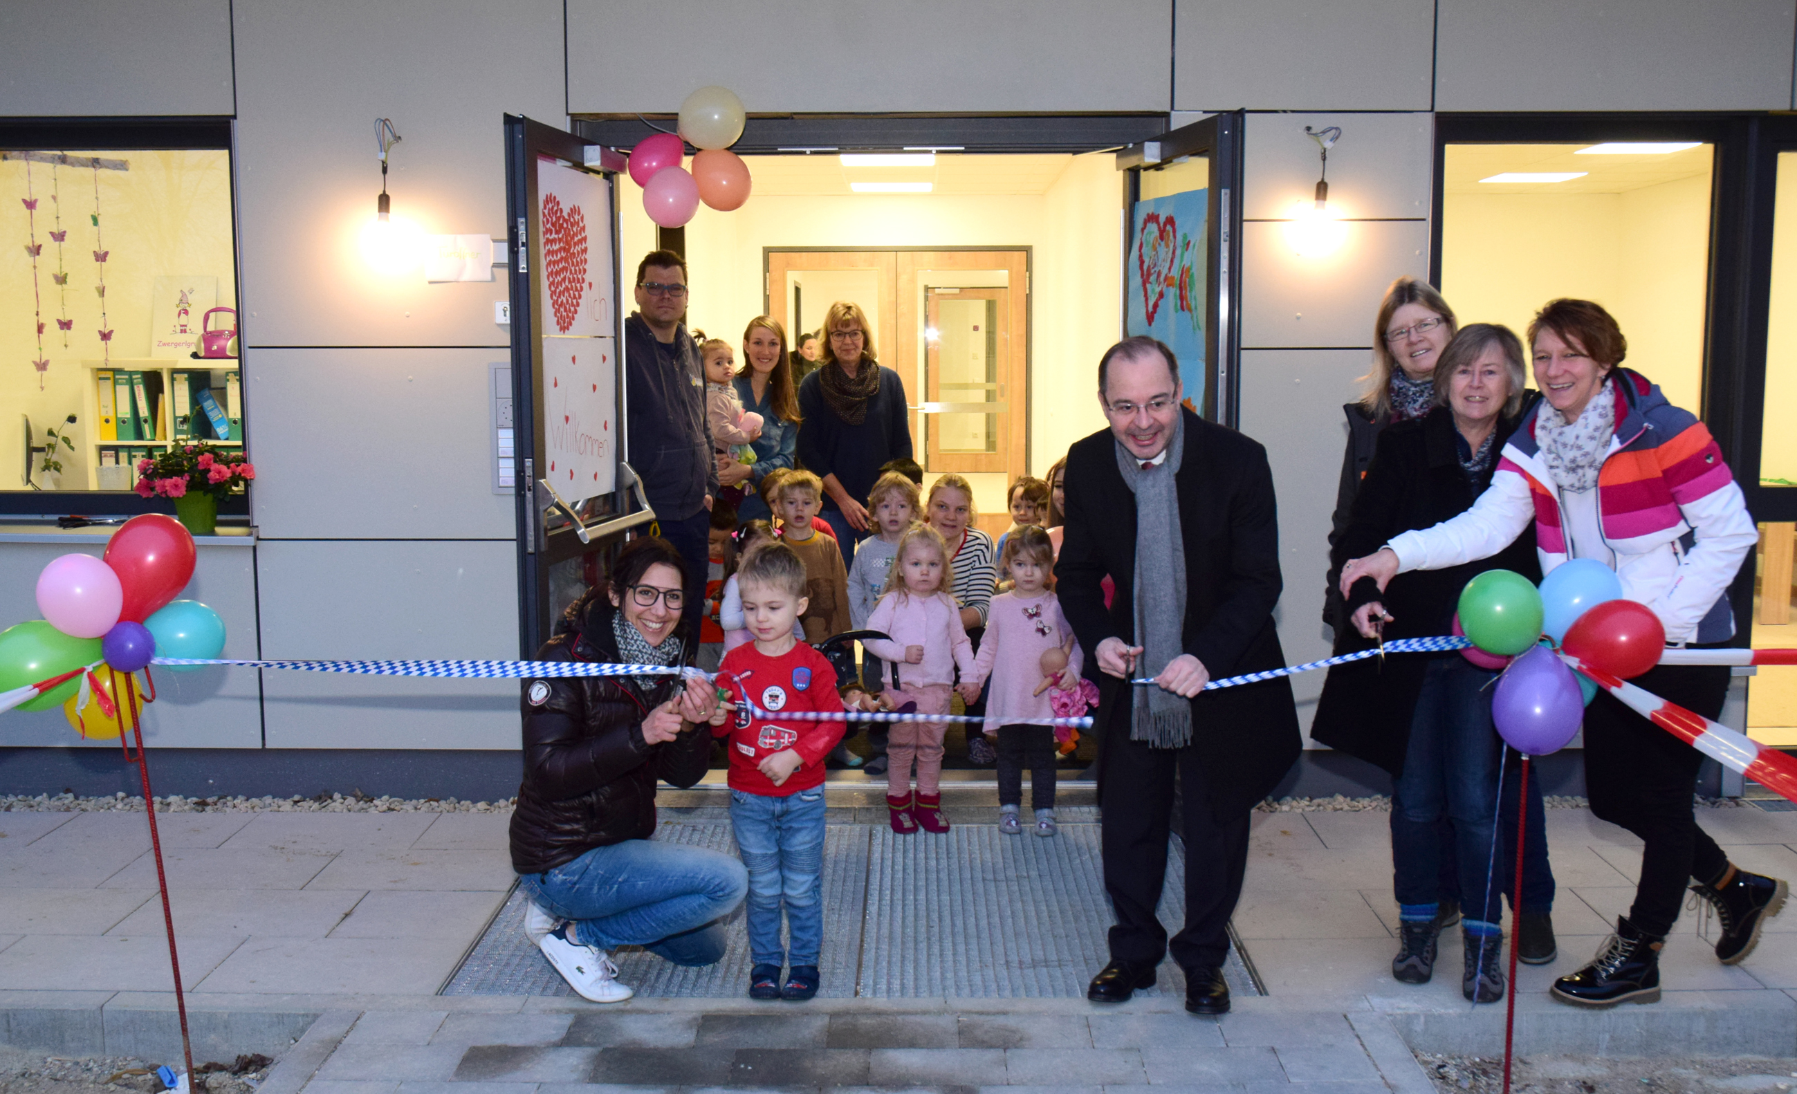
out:
{"label": "gray metal floor grate on the ground before the open doorway", "polygon": [[[1082,999],[1109,954],[1111,904],[1096,817],[1080,823],[1071,816],[1080,812],[1096,814],[1060,810],[1053,839],[1003,835],[994,825],[956,825],[945,837],[830,825],[819,995]],[[656,839],[735,851],[722,817],[663,821]],[[1182,878],[1184,853],[1173,841],[1161,920],[1175,929],[1186,914]],[[571,995],[525,940],[523,916],[525,896],[514,891],[442,993]],[[679,968],[638,948],[613,959],[643,997],[742,995],[749,975],[742,913],[731,920],[730,952],[713,966]],[[1238,948],[1224,975],[1231,992],[1260,993]],[[1179,966],[1166,961],[1159,986],[1145,993],[1184,990]]]}

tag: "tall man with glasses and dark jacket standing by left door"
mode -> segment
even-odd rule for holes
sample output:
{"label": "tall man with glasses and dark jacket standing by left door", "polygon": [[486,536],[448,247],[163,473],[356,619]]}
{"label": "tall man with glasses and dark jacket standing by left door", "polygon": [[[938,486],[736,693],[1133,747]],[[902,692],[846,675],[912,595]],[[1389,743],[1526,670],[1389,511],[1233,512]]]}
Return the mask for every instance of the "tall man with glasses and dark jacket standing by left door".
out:
{"label": "tall man with glasses and dark jacket standing by left door", "polygon": [[[685,314],[686,259],[667,250],[649,251],[636,264],[636,311],[624,320],[629,397],[624,458],[643,478],[661,537],[686,560],[681,614],[686,632],[697,636],[719,471],[704,419],[704,365],[699,345],[681,323]],[[748,476],[748,467],[731,471],[737,481]]]}

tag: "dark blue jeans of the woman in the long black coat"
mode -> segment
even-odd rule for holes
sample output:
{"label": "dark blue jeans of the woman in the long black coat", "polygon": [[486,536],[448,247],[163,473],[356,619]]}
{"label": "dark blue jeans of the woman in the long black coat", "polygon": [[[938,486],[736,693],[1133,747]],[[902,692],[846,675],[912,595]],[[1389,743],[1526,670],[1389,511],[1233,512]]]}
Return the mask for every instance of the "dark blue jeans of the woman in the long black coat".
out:
{"label": "dark blue jeans of the woman in the long black coat", "polygon": [[1502,914],[1502,850],[1497,834],[1497,729],[1492,672],[1461,656],[1434,657],[1411,719],[1403,774],[1391,790],[1391,864],[1398,904],[1434,904],[1441,891],[1439,821],[1454,830],[1461,911],[1497,923]]}

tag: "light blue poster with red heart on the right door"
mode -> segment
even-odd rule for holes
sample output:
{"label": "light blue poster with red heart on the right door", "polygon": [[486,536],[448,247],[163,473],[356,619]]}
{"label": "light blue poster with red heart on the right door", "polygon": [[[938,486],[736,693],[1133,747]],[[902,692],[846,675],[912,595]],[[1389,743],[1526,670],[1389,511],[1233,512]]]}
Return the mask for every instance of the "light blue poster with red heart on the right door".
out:
{"label": "light blue poster with red heart on the right door", "polygon": [[1186,406],[1204,406],[1204,304],[1208,298],[1209,190],[1186,190],[1136,203],[1125,259],[1129,334],[1173,347]]}

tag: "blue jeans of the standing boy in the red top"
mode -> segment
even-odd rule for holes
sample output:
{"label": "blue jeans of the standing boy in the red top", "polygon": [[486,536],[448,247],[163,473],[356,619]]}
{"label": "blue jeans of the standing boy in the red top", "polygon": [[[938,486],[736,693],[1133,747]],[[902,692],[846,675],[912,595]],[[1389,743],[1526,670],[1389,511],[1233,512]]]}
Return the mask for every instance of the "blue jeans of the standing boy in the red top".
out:
{"label": "blue jeans of the standing boy in the red top", "polygon": [[[730,823],[749,869],[749,957],[818,965],[823,948],[823,787],[764,798],[730,792]],[[780,947],[785,904],[791,952]]]}

